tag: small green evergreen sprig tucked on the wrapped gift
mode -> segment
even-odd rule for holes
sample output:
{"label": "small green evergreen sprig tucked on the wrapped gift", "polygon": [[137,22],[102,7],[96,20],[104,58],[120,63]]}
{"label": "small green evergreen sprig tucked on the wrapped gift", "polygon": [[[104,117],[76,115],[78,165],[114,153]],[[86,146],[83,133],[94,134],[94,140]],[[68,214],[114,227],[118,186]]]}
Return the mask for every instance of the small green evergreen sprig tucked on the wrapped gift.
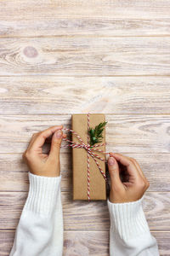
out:
{"label": "small green evergreen sprig tucked on the wrapped gift", "polygon": [[101,143],[103,138],[104,127],[107,122],[99,123],[95,128],[89,128],[88,134],[90,137],[90,146],[94,146],[96,143]]}

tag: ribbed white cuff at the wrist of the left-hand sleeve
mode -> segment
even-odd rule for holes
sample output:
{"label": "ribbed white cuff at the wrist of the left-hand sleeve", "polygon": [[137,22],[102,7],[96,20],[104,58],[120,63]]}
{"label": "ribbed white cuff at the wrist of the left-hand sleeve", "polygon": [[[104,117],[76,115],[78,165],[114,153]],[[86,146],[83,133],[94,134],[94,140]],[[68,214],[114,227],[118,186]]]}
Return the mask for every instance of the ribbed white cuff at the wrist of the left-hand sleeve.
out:
{"label": "ribbed white cuff at the wrist of the left-hand sleeve", "polygon": [[58,177],[37,176],[28,172],[30,188],[24,210],[50,215],[60,192],[61,175]]}

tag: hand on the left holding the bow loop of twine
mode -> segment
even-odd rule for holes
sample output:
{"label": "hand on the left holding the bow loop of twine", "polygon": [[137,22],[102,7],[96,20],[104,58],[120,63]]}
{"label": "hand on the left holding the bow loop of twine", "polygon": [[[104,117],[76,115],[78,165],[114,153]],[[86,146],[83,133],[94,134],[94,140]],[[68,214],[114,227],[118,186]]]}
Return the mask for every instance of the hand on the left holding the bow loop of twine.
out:
{"label": "hand on the left holding the bow loop of twine", "polygon": [[[34,133],[28,148],[22,155],[30,172],[39,176],[57,177],[60,175],[59,150],[63,137],[62,125]],[[49,154],[42,153],[42,146],[48,137],[52,137]]]}

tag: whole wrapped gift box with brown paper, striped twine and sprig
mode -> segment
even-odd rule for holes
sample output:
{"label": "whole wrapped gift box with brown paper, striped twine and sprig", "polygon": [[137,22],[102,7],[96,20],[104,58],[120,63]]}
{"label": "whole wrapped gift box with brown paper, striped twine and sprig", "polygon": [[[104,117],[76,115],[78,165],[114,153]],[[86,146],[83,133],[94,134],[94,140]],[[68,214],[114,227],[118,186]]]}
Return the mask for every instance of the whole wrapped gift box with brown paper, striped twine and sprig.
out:
{"label": "whole wrapped gift box with brown paper, striped twine and sprig", "polygon": [[73,200],[106,200],[105,114],[71,116]]}

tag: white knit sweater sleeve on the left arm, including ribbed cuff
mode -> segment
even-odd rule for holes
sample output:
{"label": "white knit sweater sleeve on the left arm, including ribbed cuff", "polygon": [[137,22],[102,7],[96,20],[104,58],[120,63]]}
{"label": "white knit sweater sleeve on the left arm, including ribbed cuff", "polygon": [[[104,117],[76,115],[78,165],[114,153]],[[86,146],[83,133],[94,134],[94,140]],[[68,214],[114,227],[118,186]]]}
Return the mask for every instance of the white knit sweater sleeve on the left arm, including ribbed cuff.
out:
{"label": "white knit sweater sleeve on the left arm, including ribbed cuff", "polygon": [[9,256],[62,256],[63,210],[59,177],[29,172],[30,189]]}

